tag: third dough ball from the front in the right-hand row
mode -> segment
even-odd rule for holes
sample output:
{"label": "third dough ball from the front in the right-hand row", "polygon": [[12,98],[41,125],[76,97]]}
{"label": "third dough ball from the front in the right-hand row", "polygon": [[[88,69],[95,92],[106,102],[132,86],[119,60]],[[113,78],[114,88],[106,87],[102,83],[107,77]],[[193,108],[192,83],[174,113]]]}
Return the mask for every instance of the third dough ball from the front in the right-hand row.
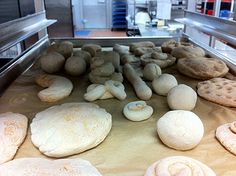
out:
{"label": "third dough ball from the front in the right-hand row", "polygon": [[152,81],[152,87],[154,91],[163,96],[167,96],[170,89],[177,86],[178,82],[173,75],[162,74],[158,78],[155,78]]}

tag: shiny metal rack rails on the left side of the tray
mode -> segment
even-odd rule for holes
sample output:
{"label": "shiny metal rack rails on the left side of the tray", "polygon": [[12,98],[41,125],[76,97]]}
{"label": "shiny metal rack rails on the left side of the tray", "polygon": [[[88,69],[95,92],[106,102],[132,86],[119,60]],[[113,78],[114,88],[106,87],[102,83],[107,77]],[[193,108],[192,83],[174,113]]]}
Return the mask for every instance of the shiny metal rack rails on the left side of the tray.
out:
{"label": "shiny metal rack rails on the left side of the tray", "polygon": [[[0,53],[19,44],[25,39],[37,34],[56,20],[46,19],[45,11],[28,15],[0,25]],[[35,57],[49,44],[47,33],[16,58],[12,58],[0,68],[0,92],[2,92],[17,76],[25,71],[34,61]]]}

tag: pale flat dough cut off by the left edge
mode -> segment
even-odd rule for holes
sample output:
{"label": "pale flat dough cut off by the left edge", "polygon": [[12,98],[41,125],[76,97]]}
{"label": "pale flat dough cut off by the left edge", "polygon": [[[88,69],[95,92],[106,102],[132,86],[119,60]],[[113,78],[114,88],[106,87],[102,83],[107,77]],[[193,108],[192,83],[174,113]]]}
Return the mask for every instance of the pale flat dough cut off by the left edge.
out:
{"label": "pale flat dough cut off by the left edge", "polygon": [[22,114],[12,112],[0,114],[0,164],[15,156],[18,147],[25,139],[27,126],[28,119]]}

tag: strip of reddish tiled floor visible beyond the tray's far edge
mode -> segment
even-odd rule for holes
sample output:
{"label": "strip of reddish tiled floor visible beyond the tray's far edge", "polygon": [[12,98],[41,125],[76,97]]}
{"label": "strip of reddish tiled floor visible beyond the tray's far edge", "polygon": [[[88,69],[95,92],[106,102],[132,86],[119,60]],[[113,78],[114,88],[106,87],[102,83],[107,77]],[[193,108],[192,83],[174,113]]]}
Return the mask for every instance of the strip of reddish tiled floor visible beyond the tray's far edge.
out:
{"label": "strip of reddish tiled floor visible beyond the tray's far edge", "polygon": [[[87,31],[88,29],[86,29]],[[126,37],[125,31],[111,31],[111,29],[90,29],[88,35],[75,35],[75,38],[87,37]]]}

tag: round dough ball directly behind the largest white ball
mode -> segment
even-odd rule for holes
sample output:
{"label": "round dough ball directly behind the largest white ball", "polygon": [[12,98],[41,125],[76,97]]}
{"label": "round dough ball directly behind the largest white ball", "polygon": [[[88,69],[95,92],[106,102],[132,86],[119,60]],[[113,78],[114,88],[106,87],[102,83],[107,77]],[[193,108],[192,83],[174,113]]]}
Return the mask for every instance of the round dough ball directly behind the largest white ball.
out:
{"label": "round dough ball directly behind the largest white ball", "polygon": [[167,102],[170,109],[191,111],[196,105],[197,93],[191,87],[180,84],[168,92]]}

